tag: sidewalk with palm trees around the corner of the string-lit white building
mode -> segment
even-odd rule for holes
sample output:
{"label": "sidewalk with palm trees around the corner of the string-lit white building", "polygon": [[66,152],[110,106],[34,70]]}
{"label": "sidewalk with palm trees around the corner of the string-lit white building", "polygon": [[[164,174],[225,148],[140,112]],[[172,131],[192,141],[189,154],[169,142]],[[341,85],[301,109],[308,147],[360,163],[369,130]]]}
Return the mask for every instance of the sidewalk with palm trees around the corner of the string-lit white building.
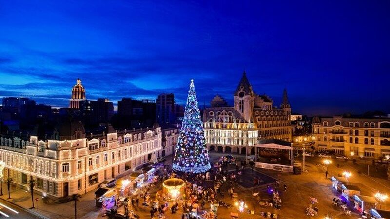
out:
{"label": "sidewalk with palm trees around the corner of the string-lit white building", "polygon": [[[34,202],[34,209],[31,203],[30,192],[21,189],[19,187],[11,185],[11,199],[8,198],[7,185],[3,183],[3,196],[1,199],[4,201],[12,202],[13,204],[26,209],[31,214],[36,216],[43,216],[44,219],[74,219],[75,210],[74,202],[67,202],[62,204],[54,203],[52,200],[45,204],[42,201],[42,196],[38,193],[34,193],[34,199],[39,198],[39,201]],[[77,202],[77,218],[78,219],[94,219],[99,215],[99,208],[95,207],[95,194],[93,191],[86,194],[81,194],[80,201]],[[102,212],[101,212],[102,213]]]}

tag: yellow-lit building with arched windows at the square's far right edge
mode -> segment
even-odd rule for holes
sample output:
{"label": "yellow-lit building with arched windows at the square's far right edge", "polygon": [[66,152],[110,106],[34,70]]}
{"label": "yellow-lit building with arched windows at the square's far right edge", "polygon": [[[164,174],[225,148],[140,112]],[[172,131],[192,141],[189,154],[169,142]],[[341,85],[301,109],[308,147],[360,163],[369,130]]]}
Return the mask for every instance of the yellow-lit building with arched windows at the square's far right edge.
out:
{"label": "yellow-lit building with arched windows at the square's far right edge", "polygon": [[318,150],[372,158],[390,155],[390,118],[314,117],[312,131]]}

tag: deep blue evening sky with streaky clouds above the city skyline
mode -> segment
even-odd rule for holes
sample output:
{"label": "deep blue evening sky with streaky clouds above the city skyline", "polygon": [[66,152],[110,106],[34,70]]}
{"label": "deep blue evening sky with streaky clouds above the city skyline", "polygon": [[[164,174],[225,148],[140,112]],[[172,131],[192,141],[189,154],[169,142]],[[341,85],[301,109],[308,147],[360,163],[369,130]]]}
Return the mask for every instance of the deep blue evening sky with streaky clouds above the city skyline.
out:
{"label": "deep blue evening sky with streaky clouds above the city skyline", "polygon": [[0,4],[0,97],[67,106],[87,98],[232,102],[246,69],[292,110],[390,112],[390,1],[57,1]]}

